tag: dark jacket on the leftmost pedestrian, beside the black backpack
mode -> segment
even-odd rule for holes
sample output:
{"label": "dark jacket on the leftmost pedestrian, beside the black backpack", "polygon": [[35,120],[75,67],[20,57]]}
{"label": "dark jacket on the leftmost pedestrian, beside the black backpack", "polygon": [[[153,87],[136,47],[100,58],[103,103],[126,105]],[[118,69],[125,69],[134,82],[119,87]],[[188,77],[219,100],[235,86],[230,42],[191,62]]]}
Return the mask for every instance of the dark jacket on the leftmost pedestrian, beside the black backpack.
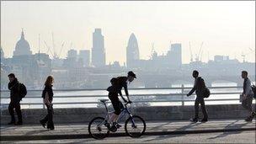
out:
{"label": "dark jacket on the leftmost pedestrian, beside the black backpack", "polygon": [[19,95],[19,81],[17,78],[13,82],[8,83],[8,89],[11,91],[10,97],[11,101],[20,101],[21,97]]}

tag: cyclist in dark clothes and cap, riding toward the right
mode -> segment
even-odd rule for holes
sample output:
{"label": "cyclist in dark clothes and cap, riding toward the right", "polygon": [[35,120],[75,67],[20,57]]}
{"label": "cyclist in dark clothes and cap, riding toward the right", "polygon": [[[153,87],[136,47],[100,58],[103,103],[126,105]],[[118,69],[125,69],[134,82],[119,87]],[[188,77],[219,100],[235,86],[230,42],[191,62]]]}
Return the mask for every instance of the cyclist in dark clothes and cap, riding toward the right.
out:
{"label": "cyclist in dark clothes and cap, riding toward the right", "polygon": [[[107,89],[107,91],[109,91],[109,99],[111,100],[111,103],[115,109],[115,112],[110,116],[109,121],[106,124],[110,131],[120,127],[116,120],[120,115],[121,109],[124,109],[123,104],[120,102],[120,99],[118,99],[118,94],[120,94],[125,103],[131,103],[131,100],[129,99],[127,83],[131,83],[134,78],[136,78],[136,74],[130,71],[128,72],[127,77],[113,77],[110,80],[111,86]],[[125,95],[127,96],[128,101],[122,95],[122,88],[125,88]],[[113,122],[113,124],[110,127],[109,124],[111,122]]]}

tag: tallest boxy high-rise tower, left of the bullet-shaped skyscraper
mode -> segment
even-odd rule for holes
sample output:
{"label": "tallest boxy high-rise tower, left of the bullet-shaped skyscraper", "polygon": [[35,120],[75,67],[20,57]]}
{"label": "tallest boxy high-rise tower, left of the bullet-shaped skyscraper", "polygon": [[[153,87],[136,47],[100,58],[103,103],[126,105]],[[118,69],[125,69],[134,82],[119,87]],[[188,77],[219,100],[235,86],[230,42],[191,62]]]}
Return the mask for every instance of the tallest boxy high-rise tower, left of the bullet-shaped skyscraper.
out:
{"label": "tallest boxy high-rise tower, left of the bullet-shaped skyscraper", "polygon": [[105,61],[104,36],[101,34],[101,29],[95,29],[93,32],[92,64],[94,67],[104,67]]}

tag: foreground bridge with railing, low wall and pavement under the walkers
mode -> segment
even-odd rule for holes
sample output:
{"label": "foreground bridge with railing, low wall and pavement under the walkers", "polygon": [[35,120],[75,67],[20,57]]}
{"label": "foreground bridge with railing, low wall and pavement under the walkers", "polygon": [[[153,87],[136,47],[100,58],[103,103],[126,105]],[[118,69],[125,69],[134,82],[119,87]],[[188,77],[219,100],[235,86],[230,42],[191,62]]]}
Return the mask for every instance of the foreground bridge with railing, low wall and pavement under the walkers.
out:
{"label": "foreground bridge with railing, low wall and pavement under the walkers", "polygon": [[[238,95],[242,91],[241,87],[210,87],[211,96],[205,99],[209,121],[196,124],[191,124],[188,121],[194,115],[193,102],[195,100],[193,96],[192,98],[185,96],[189,89],[184,87],[130,89],[131,99],[134,102],[131,104],[132,114],[140,115],[147,122],[146,135],[142,136],[141,140],[146,139],[147,136],[180,136],[198,133],[201,135],[218,133],[222,136],[222,134],[232,131],[241,132],[241,135],[244,131],[255,133],[255,120],[252,123],[243,120],[248,114],[239,103]],[[104,89],[55,90],[55,131],[47,131],[39,125],[39,120],[46,115],[40,93],[41,90],[28,91],[28,95],[21,102],[24,125],[14,126],[6,125],[10,119],[7,109],[8,91],[1,91],[2,141],[13,141],[14,139],[35,142],[60,139],[92,140],[88,136],[88,121],[95,116],[104,115],[105,109],[100,106],[98,101],[107,98]],[[64,99],[69,100],[65,101]],[[253,103],[255,104],[255,102]],[[111,106],[109,107],[111,108]],[[123,127],[116,133],[110,134],[110,137],[120,136],[125,136]],[[128,141],[139,140],[129,139]],[[255,141],[255,139],[250,138],[248,141]],[[99,141],[99,143],[101,142],[103,141]],[[118,138],[114,142],[118,143]]]}

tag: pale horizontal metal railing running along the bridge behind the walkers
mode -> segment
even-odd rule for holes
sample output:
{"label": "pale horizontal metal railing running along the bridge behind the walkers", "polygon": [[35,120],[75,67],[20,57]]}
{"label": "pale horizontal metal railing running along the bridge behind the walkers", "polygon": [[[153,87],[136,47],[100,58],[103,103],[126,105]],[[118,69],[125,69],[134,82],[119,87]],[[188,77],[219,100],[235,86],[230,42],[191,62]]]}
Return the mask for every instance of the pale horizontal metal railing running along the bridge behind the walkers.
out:
{"label": "pale horizontal metal railing running along the bridge behind the walkers", "polygon": [[[159,102],[181,102],[182,105],[184,105],[184,102],[192,102],[195,101],[195,99],[185,99],[187,92],[184,91],[185,89],[190,89],[191,87],[182,87],[179,88],[129,88],[129,90],[164,90],[164,89],[180,89],[181,93],[159,93],[159,92],[152,92],[152,93],[145,93],[145,94],[130,94],[131,97],[149,97],[149,96],[163,96],[163,97],[170,97],[170,96],[181,96],[179,99],[140,99],[140,100],[133,100],[133,103],[159,103]],[[210,89],[223,89],[223,88],[242,88],[242,87],[208,87]],[[94,88],[94,89],[53,89],[55,92],[62,91],[62,92],[74,92],[74,91],[98,91],[98,90],[105,90],[102,88]],[[238,90],[238,89],[237,89]],[[41,92],[42,90],[28,90],[28,92]],[[1,93],[6,93],[9,92],[8,90],[1,90]],[[107,93],[107,92],[106,92]],[[211,95],[219,95],[219,94],[240,94],[241,92],[220,92],[220,93],[211,93]],[[195,95],[195,94],[192,94]],[[102,95],[56,95],[55,98],[103,98],[103,97],[108,97],[106,94]],[[8,96],[2,96],[1,99],[9,99]],[[24,99],[41,99],[40,95],[37,96],[26,96]],[[232,101],[232,100],[239,100],[239,99],[205,99],[205,101]],[[110,102],[107,102],[110,103]],[[40,105],[43,103],[24,103],[21,102],[20,104],[22,105]],[[83,102],[83,101],[72,101],[72,102],[54,102],[53,104],[101,104],[100,102],[97,101],[88,101],[88,102]],[[5,105],[5,104],[1,104]],[[44,104],[43,104],[44,105]],[[45,108],[45,107],[44,107]]]}

